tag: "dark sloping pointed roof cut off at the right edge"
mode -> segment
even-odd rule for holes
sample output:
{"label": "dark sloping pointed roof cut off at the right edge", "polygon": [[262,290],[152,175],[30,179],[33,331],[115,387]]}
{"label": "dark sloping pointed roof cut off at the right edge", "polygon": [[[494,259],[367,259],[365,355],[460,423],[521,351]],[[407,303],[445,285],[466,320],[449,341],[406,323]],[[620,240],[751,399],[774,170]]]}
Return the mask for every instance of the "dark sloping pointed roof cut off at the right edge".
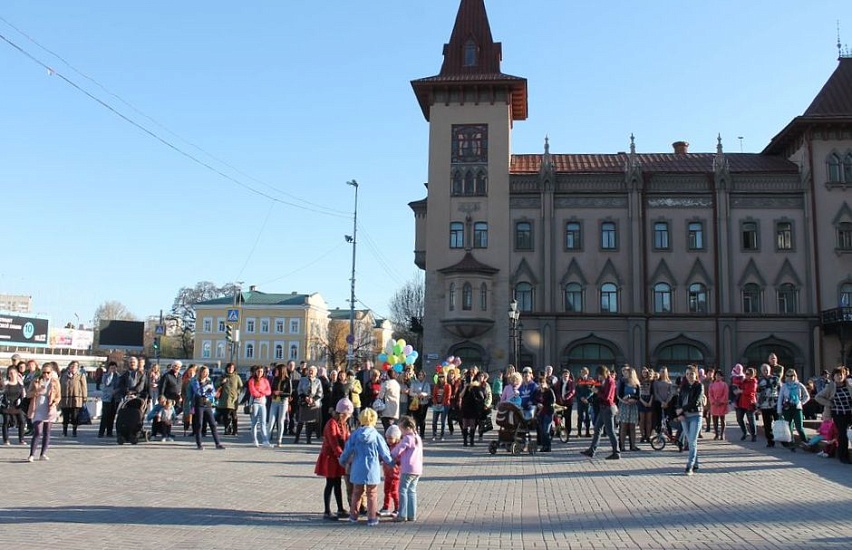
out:
{"label": "dark sloping pointed roof cut off at the right edge", "polygon": [[837,68],[802,116],[794,118],[763,150],[765,154],[785,154],[795,146],[809,127],[841,123],[852,125],[852,57],[838,59]]}

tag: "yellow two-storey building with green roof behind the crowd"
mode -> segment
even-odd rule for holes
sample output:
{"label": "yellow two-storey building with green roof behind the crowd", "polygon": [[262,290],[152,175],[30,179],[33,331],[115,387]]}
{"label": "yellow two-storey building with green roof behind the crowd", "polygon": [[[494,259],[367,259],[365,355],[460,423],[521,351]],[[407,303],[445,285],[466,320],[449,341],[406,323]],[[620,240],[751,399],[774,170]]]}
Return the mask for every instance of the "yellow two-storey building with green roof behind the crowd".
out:
{"label": "yellow two-storey building with green roof behind the crowd", "polygon": [[[235,305],[236,304],[236,305]],[[234,362],[245,368],[256,364],[307,361],[323,357],[316,346],[328,333],[328,308],[318,293],[267,294],[255,287],[233,296],[195,305],[193,359],[224,365],[231,359],[227,326],[239,329]]]}

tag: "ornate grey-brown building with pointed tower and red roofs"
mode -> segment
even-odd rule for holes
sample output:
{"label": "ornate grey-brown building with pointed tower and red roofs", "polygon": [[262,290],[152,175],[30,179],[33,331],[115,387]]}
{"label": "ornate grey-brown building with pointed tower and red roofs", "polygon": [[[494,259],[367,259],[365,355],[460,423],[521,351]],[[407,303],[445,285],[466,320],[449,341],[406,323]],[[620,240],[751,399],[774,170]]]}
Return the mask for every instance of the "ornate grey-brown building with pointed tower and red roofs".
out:
{"label": "ornate grey-brown building with pointed tower and red roofs", "polygon": [[[412,202],[424,352],[491,370],[837,363],[852,306],[852,59],[761,153],[512,154],[526,80],[500,70],[483,0],[412,86],[430,125]],[[507,311],[520,309],[520,330]],[[824,316],[823,316],[824,317]],[[850,318],[852,328],[852,318]]]}

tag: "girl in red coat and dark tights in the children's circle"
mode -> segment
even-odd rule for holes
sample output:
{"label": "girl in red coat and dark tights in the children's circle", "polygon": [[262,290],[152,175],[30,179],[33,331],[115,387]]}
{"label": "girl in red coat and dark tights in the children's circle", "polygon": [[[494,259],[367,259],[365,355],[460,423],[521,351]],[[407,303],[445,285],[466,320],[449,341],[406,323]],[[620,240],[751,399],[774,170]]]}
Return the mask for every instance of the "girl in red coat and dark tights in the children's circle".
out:
{"label": "girl in red coat and dark tights in the children's circle", "polygon": [[[322,449],[317,457],[317,465],[314,473],[325,478],[325,491],[323,491],[323,504],[325,512],[323,519],[337,521],[339,518],[349,516],[349,512],[343,507],[343,491],[341,483],[346,470],[338,460],[343,453],[346,440],[349,439],[349,418],[352,416],[352,401],[343,398],[337,402],[334,418],[328,421],[322,433]],[[337,515],[331,513],[331,493],[334,492],[334,500],[337,501]]]}

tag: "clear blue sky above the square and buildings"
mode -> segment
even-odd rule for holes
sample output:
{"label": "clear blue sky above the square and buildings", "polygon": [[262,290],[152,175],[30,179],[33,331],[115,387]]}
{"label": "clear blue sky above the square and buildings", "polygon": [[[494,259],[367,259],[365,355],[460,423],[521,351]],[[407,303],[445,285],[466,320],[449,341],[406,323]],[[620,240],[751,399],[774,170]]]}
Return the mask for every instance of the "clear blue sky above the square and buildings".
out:
{"label": "clear blue sky above the square and buildings", "polygon": [[[4,2],[68,64],[0,21],[57,73],[0,41],[0,292],[56,324],[106,300],[156,314],[201,280],[348,308],[354,178],[357,296],[386,314],[416,270],[407,203],[425,196],[409,81],[440,70],[458,4]],[[760,151],[834,70],[837,20],[852,43],[848,0],[486,4],[504,72],[529,79],[515,153],[545,135],[555,153],[614,153],[631,132],[640,152],[713,151],[717,133]]]}

